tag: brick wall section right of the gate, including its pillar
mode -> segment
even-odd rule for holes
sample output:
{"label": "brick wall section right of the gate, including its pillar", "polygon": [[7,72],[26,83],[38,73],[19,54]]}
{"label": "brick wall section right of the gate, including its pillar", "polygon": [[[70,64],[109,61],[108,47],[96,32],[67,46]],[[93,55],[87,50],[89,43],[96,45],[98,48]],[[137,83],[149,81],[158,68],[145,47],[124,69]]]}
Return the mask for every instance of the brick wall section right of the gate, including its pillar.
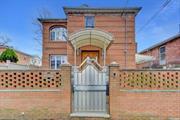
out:
{"label": "brick wall section right of the gate, including its pillar", "polygon": [[180,71],[120,70],[110,66],[113,119],[180,118]]}

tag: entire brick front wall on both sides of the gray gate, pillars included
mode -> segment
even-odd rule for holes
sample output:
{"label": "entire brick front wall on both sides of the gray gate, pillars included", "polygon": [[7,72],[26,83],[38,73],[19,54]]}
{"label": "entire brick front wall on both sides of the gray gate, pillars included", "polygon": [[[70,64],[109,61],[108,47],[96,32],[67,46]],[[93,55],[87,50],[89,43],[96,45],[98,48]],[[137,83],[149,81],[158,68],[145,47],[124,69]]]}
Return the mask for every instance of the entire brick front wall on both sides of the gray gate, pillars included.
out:
{"label": "entire brick front wall on both sides of the gray gate, pillars included", "polygon": [[[0,119],[68,119],[71,66],[60,70],[0,71]],[[180,71],[109,67],[113,120],[180,118]],[[24,117],[24,118],[23,118]]]}

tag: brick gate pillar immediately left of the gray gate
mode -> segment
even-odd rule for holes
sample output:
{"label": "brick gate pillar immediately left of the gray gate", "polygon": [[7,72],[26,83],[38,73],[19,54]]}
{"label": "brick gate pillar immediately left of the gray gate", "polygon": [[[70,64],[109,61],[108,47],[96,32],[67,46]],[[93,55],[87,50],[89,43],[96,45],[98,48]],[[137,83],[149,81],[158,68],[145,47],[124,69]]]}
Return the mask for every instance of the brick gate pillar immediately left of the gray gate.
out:
{"label": "brick gate pillar immediately left of the gray gate", "polygon": [[70,114],[71,113],[71,65],[69,64],[63,64],[61,65],[61,72],[62,72],[62,79],[63,79],[63,92],[64,96],[62,99],[64,99],[64,104],[66,106],[66,109],[63,111],[65,113]]}

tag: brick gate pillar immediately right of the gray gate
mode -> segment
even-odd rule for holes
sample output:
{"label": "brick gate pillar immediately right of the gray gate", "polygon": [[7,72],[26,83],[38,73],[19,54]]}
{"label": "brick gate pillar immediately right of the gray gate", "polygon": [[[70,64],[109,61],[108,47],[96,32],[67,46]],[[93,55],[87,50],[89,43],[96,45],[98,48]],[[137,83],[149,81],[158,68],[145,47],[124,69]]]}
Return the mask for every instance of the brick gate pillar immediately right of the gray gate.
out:
{"label": "brick gate pillar immediately right of the gray gate", "polygon": [[118,115],[118,101],[116,97],[119,94],[119,64],[111,63],[109,66],[109,106],[110,106],[110,115],[114,119]]}

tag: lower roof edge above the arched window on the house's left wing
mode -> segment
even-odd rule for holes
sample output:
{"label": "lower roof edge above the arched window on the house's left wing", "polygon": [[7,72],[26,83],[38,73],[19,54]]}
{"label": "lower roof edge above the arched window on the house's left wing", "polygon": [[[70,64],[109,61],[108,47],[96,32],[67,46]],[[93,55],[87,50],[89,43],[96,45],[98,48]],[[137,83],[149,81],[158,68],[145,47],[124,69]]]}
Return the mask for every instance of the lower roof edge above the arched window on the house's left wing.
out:
{"label": "lower roof edge above the arched window on the house's left wing", "polygon": [[38,21],[41,23],[44,22],[67,22],[67,19],[59,19],[59,18],[38,18]]}

